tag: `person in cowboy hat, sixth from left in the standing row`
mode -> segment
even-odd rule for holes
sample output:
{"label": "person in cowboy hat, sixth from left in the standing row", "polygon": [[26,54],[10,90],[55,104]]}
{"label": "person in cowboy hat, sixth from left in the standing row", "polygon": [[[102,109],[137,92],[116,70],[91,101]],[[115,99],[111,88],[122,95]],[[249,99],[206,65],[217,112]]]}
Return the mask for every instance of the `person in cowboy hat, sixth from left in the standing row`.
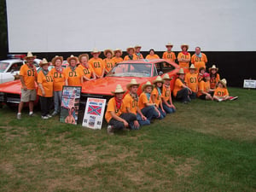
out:
{"label": "person in cowboy hat, sixth from left in the standing row", "polygon": [[104,77],[105,73],[104,61],[99,58],[101,51],[98,49],[93,49],[90,54],[93,57],[89,60],[89,64],[96,74],[96,79],[101,79]]}

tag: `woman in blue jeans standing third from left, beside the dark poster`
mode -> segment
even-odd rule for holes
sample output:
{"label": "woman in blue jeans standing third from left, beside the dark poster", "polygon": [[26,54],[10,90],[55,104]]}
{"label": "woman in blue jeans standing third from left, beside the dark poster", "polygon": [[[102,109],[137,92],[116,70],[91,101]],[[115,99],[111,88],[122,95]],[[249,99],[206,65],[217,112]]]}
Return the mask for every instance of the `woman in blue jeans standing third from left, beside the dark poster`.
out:
{"label": "woman in blue jeans standing third from left, beside the dark poster", "polygon": [[62,86],[65,85],[64,78],[64,67],[61,67],[63,62],[63,57],[56,55],[51,63],[54,66],[53,69],[50,70],[52,78],[54,79],[53,89],[54,89],[54,103],[55,103],[55,111],[52,113],[52,116],[55,116],[57,113],[61,111],[61,94],[62,94]]}

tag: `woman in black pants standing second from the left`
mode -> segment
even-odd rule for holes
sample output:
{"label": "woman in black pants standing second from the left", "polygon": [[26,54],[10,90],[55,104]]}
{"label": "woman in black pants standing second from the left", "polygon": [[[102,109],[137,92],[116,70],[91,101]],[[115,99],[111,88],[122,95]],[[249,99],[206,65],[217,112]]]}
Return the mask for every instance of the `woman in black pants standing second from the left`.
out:
{"label": "woman in black pants standing second from the left", "polygon": [[40,67],[42,70],[38,73],[38,96],[41,104],[41,117],[42,119],[49,119],[51,118],[49,109],[53,96],[53,78],[49,73],[49,62],[46,59],[40,62]]}

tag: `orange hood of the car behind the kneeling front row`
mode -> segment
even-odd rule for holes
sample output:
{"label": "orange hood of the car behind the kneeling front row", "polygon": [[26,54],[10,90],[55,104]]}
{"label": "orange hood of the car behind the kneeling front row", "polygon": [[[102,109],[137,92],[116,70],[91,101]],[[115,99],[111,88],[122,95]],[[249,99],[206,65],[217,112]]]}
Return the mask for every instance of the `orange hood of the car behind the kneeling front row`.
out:
{"label": "orange hood of the car behind the kneeling front row", "polygon": [[135,78],[135,77],[106,77],[103,79],[95,79],[84,82],[82,93],[93,95],[112,95],[111,91],[115,90],[117,84],[120,84],[123,90],[126,90],[126,84],[131,82],[131,79],[136,79],[138,84],[146,83],[152,78]]}

